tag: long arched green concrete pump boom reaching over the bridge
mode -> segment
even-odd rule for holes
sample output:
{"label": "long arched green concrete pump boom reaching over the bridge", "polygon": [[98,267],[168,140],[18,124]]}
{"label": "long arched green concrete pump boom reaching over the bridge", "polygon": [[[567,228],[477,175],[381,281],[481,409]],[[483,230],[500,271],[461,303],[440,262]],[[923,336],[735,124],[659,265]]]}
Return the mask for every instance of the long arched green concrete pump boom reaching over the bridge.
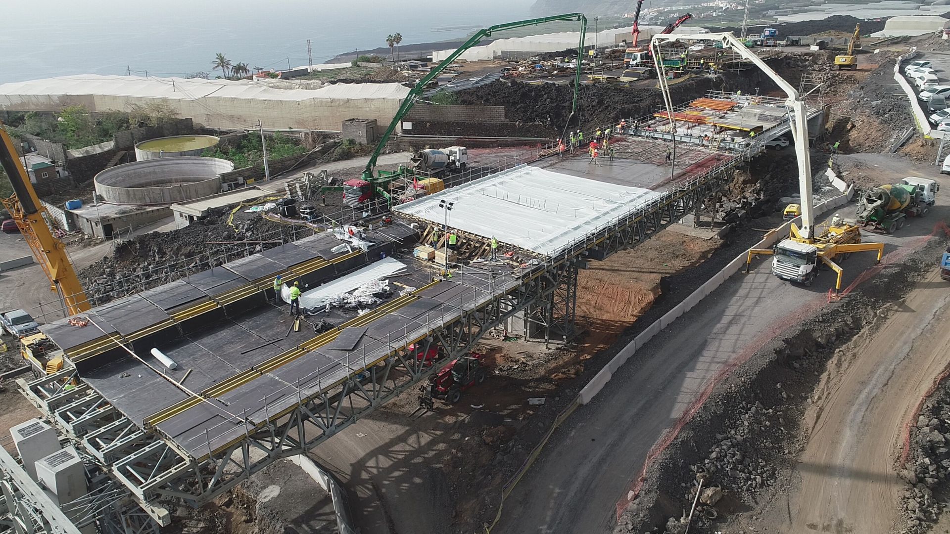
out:
{"label": "long arched green concrete pump boom reaching over the bridge", "polygon": [[[403,104],[399,106],[399,110],[396,111],[395,117],[392,118],[392,122],[390,122],[390,127],[386,128],[386,133],[384,133],[383,137],[380,138],[379,144],[376,145],[376,149],[372,151],[372,155],[370,156],[370,161],[367,162],[366,168],[363,169],[363,180],[372,181],[373,168],[376,166],[376,159],[379,158],[379,154],[383,151],[383,147],[386,146],[386,143],[390,141],[390,136],[392,135],[392,132],[395,131],[396,126],[399,124],[400,121],[402,121],[403,117],[405,117],[406,114],[409,113],[409,109],[411,109],[412,105],[415,104],[416,99],[422,95],[424,89],[426,88],[426,86],[428,86],[428,83],[434,80],[435,77],[438,76],[440,73],[442,73],[442,71],[445,70],[446,67],[448,67],[453,62],[455,62],[455,60],[458,59],[460,55],[462,55],[462,52],[466,51],[468,48],[472,48],[475,45],[478,45],[478,43],[482,41],[482,39],[485,39],[485,37],[490,36],[495,31],[502,31],[504,29],[524,28],[526,26],[535,26],[535,25],[544,24],[547,22],[559,21],[559,20],[564,20],[564,21],[579,20],[580,21],[580,45],[578,45],[578,69],[577,69],[577,72],[575,72],[574,74],[574,101],[571,103],[571,116],[573,117],[575,111],[577,111],[577,108],[578,108],[578,88],[580,87],[580,62],[583,59],[584,33],[587,31],[587,17],[585,17],[583,13],[566,13],[563,15],[552,15],[549,17],[543,17],[539,19],[509,22],[506,24],[499,24],[499,25],[492,26],[489,28],[480,29],[478,30],[478,32],[475,33],[475,35],[472,35],[466,41],[464,45],[462,45],[461,47],[456,49],[454,52],[452,52],[451,55],[449,55],[442,63],[440,63],[437,67],[430,70],[425,78],[423,78],[422,80],[419,80],[419,82],[415,86],[413,86],[412,89],[409,90],[409,94],[406,95],[406,98],[403,100]],[[568,122],[570,122],[570,118],[568,118]]]}

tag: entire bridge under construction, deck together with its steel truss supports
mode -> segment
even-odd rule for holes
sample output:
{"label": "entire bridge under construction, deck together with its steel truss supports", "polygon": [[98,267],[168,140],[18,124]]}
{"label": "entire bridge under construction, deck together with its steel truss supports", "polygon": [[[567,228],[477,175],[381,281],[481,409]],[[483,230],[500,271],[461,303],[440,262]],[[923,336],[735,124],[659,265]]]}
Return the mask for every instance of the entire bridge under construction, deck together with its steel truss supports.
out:
{"label": "entire bridge under construction, deck together with its steel truss supports", "polygon": [[[21,381],[21,389],[123,495],[168,524],[161,500],[201,505],[276,459],[314,448],[471,351],[491,328],[517,320],[526,331],[569,335],[585,261],[636,246],[691,213],[770,132],[731,151],[678,143],[672,169],[664,141],[630,133],[618,139],[613,165],[556,156],[404,204],[395,210],[402,221],[367,232],[374,244],[366,250],[333,252],[342,241],[319,233],[75,317],[85,326],[45,325],[66,368]],[[530,190],[519,196],[518,187]],[[449,226],[464,238],[496,236],[519,261],[473,262],[446,279],[409,257],[407,248],[447,216],[440,200],[455,202]],[[300,280],[307,295],[383,257],[401,263],[391,279],[402,289],[370,310],[333,308],[295,332],[270,303],[278,274]],[[314,333],[319,321],[329,330]],[[433,362],[414,355],[436,346]],[[152,349],[178,367],[153,363]],[[106,493],[125,499],[99,492],[88,507],[107,507]]]}

